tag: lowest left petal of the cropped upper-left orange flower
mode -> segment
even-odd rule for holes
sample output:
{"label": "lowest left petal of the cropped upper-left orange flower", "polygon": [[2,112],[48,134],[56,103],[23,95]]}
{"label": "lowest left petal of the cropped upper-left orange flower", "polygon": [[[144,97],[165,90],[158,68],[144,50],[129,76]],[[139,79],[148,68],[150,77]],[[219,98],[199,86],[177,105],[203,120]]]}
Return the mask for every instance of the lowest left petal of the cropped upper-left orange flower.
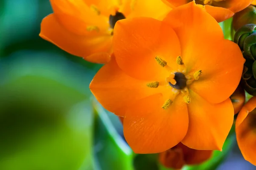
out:
{"label": "lowest left petal of the cropped upper-left orange flower", "polygon": [[110,60],[112,36],[86,37],[73,34],[58,23],[55,14],[43,19],[39,35],[64,51],[84,57],[89,62],[106,63]]}

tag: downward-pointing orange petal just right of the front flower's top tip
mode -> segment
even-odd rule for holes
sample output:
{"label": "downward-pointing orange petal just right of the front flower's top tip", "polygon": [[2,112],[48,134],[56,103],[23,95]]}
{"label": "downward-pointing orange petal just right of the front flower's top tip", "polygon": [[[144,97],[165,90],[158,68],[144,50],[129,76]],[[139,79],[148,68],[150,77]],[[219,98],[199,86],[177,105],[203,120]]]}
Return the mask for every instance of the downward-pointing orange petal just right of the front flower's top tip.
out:
{"label": "downward-pointing orange petal just right of the front flower's top tip", "polygon": [[233,17],[233,15],[235,13],[233,13],[232,11],[230,11],[227,8],[221,8],[221,7],[217,7],[217,6],[209,6],[206,5],[205,6],[206,11],[215,18],[215,20],[220,23],[224,20],[227,20],[231,17]]}

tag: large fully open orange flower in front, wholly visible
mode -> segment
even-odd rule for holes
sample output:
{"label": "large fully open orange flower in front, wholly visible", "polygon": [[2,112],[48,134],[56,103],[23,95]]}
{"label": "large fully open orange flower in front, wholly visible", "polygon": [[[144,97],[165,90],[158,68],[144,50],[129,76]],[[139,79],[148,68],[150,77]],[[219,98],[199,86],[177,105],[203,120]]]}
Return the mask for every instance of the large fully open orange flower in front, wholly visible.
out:
{"label": "large fully open orange flower in front, wholly visible", "polygon": [[160,153],[179,142],[221,150],[244,58],[213,17],[192,2],[163,21],[120,20],[113,53],[90,89],[103,107],[124,117],[134,152]]}

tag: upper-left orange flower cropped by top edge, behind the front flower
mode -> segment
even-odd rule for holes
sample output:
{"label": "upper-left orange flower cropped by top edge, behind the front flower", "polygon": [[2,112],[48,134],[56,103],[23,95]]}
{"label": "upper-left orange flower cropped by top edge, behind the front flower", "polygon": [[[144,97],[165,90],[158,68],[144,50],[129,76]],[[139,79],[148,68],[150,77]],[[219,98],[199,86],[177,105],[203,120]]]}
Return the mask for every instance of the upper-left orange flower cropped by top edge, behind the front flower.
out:
{"label": "upper-left orange flower cropped by top edge, behind the front flower", "polygon": [[40,36],[89,62],[106,63],[117,20],[163,19],[171,10],[161,0],[50,0],[53,14],[41,23]]}

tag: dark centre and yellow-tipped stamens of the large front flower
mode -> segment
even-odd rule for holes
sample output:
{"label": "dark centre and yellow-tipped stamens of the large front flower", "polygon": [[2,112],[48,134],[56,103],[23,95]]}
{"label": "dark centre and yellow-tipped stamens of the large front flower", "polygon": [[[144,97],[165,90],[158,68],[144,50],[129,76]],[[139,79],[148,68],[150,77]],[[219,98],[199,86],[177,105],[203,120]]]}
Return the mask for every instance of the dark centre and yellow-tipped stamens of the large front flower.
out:
{"label": "dark centre and yellow-tipped stamens of the large front flower", "polygon": [[165,81],[150,82],[147,84],[149,88],[158,88],[160,85],[167,85],[170,88],[172,88],[172,94],[169,97],[169,99],[167,99],[166,102],[163,104],[162,108],[164,110],[167,110],[172,105],[176,96],[180,93],[183,95],[184,102],[189,104],[190,96],[188,86],[193,81],[198,80],[200,78],[202,71],[198,70],[195,72],[187,72],[186,67],[180,56],[178,56],[176,59],[176,63],[178,65],[177,70],[172,70],[172,68],[169,67],[167,62],[160,57],[155,57],[155,60],[161,67],[166,68],[170,73],[170,76],[167,77]]}

